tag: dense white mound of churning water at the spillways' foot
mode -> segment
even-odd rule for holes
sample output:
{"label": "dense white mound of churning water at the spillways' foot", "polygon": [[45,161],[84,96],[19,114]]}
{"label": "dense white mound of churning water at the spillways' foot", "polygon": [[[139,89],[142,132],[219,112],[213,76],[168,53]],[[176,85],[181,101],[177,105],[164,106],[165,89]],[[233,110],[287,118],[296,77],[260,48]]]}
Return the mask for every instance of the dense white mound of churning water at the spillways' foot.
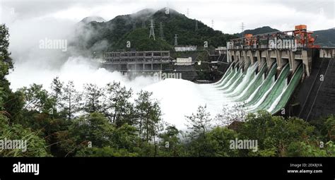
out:
{"label": "dense white mound of churning water at the spillways' foot", "polygon": [[165,79],[148,85],[144,90],[153,92],[163,109],[163,119],[178,128],[185,129],[185,115],[196,112],[199,105],[205,105],[212,117],[218,114],[223,104],[228,104],[221,91],[210,85],[199,85],[188,80]]}

